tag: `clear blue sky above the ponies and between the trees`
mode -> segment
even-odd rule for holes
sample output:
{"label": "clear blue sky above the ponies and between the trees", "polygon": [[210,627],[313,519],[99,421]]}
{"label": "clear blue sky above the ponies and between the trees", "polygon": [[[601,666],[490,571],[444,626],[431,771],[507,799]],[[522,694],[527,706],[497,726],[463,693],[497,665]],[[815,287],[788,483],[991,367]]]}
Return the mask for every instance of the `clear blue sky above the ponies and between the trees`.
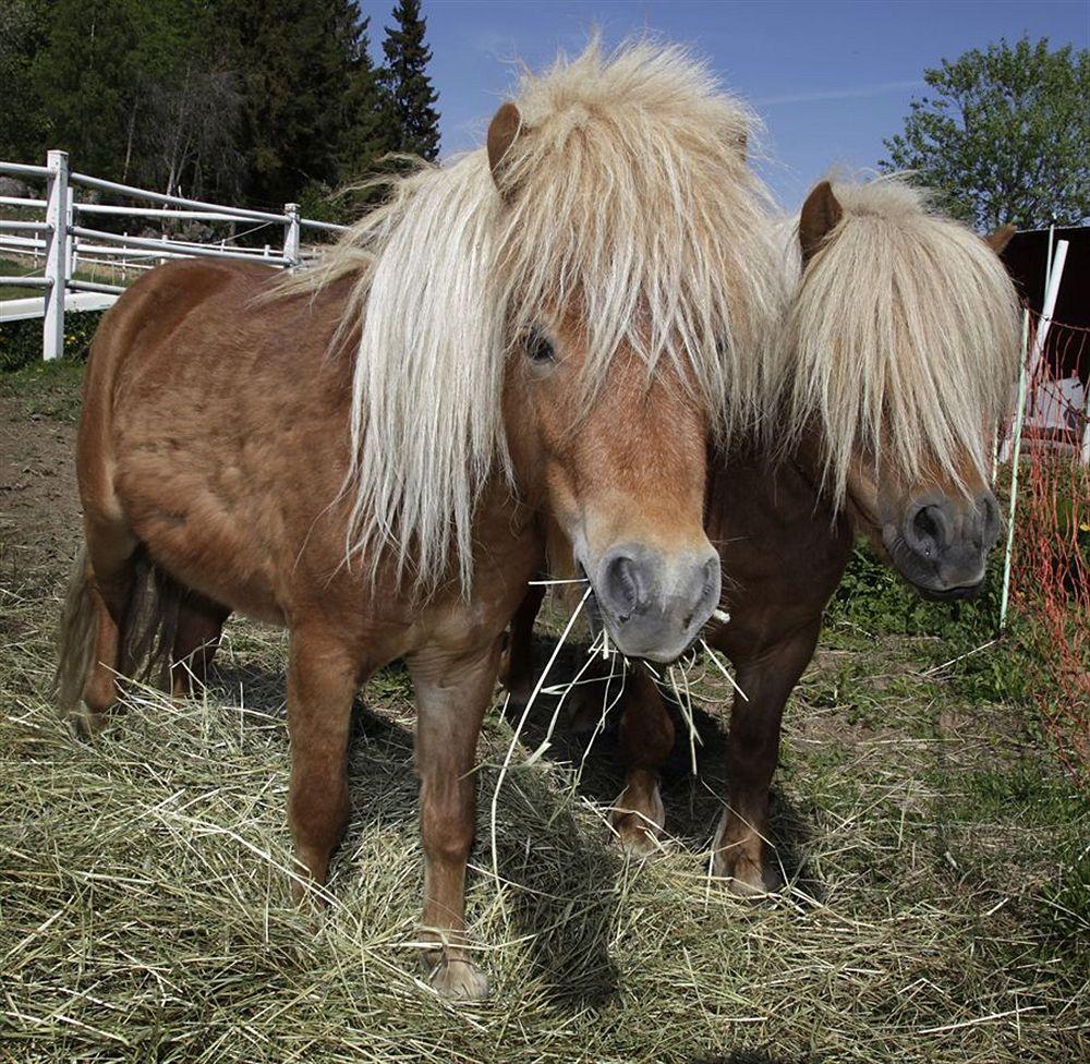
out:
{"label": "clear blue sky above the ponies and between the trees", "polygon": [[[1090,0],[424,0],[443,154],[475,147],[511,83],[511,61],[547,63],[598,26],[607,44],[650,29],[690,45],[753,104],[774,161],[765,177],[797,206],[833,164],[873,166],[922,74],[943,58],[1028,33],[1090,46]],[[392,2],[361,0],[379,51]]]}

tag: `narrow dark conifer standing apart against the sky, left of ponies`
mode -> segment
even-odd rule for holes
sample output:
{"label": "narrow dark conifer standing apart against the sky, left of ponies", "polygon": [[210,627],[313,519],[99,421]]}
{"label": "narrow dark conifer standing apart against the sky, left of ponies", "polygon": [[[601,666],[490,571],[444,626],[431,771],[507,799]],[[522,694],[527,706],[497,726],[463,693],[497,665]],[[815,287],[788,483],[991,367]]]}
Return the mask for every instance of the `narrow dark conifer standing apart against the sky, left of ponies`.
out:
{"label": "narrow dark conifer standing apart against the sky, left of ponies", "polygon": [[438,97],[427,76],[432,49],[424,44],[426,22],[420,0],[399,0],[393,9],[396,27],[386,27],[383,51],[383,87],[395,132],[393,150],[433,160],[439,154]]}

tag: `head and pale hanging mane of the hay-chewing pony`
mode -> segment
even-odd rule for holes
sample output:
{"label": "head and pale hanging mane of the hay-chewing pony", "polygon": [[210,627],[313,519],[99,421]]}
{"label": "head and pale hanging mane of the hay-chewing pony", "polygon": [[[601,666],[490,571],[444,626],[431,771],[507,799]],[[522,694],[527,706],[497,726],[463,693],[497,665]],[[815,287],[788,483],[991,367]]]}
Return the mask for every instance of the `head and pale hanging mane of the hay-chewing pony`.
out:
{"label": "head and pale hanging mane of the hay-chewing pony", "polygon": [[525,73],[485,147],[395,185],[359,270],[350,549],[469,589],[484,486],[558,527],[621,652],[669,660],[718,601],[706,447],[760,406],[782,313],[750,113],[681,50]]}

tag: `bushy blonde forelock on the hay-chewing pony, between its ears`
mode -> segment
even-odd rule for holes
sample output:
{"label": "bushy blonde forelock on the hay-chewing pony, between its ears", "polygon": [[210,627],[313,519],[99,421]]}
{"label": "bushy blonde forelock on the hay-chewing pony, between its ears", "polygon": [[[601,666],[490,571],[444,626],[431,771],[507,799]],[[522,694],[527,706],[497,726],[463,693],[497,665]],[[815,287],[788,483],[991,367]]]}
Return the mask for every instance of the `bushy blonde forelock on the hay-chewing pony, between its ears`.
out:
{"label": "bushy blonde forelock on the hay-chewing pony, between its ears", "polygon": [[585,385],[616,352],[667,360],[723,434],[755,419],[783,310],[767,195],[741,142],[755,119],[676,47],[592,45],[519,96],[528,135],[502,183],[516,329],[578,299]]}

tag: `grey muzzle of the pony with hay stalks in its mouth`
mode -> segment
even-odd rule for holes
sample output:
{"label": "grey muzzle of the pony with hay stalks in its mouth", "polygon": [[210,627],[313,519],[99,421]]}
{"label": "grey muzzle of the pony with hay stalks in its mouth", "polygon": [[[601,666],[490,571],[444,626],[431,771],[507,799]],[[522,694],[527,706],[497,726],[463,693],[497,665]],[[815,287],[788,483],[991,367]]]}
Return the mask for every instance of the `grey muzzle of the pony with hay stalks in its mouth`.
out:
{"label": "grey muzzle of the pony with hay stalks in its mouth", "polygon": [[719,557],[710,543],[678,554],[626,543],[584,571],[602,624],[626,657],[676,661],[719,604]]}

